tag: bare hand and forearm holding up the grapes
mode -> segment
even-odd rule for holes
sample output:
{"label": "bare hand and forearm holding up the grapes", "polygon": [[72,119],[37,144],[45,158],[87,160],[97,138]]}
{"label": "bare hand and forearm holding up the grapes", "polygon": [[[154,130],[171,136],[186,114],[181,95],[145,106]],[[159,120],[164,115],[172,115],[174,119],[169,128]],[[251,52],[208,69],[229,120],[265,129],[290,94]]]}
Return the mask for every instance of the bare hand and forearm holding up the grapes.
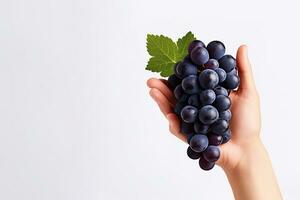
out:
{"label": "bare hand and forearm holding up the grapes", "polygon": [[[247,47],[237,51],[240,86],[230,93],[232,102],[231,140],[220,146],[217,164],[224,170],[236,200],[282,199],[268,153],[260,139],[259,96],[255,87]],[[180,133],[180,121],[173,113],[175,97],[166,81],[150,78],[150,96],[169,121],[169,130],[186,142]]]}

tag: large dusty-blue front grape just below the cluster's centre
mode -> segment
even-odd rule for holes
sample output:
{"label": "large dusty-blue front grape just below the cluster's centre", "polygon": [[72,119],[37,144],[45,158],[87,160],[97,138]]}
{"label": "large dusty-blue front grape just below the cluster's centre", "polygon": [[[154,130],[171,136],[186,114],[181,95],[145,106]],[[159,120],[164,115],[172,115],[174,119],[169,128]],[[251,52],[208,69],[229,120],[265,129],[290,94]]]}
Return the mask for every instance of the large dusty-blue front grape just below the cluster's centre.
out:
{"label": "large dusty-blue front grape just below the cluster's centre", "polygon": [[217,121],[218,118],[219,118],[218,110],[211,105],[203,106],[199,110],[199,120],[203,124],[212,124],[215,121]]}

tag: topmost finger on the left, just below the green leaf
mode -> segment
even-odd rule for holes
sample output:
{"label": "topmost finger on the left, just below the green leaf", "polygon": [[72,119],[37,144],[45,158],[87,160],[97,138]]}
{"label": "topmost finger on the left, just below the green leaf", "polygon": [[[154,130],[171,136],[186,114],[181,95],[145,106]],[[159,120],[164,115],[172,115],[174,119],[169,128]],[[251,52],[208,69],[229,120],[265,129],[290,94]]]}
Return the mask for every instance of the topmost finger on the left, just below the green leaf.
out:
{"label": "topmost finger on the left, just below the green leaf", "polygon": [[172,91],[168,88],[168,86],[165,83],[165,80],[159,80],[156,78],[150,78],[147,81],[147,85],[150,88],[156,88],[161,91],[161,93],[168,99],[168,101],[174,106],[176,104],[176,100],[174,98],[174,95]]}

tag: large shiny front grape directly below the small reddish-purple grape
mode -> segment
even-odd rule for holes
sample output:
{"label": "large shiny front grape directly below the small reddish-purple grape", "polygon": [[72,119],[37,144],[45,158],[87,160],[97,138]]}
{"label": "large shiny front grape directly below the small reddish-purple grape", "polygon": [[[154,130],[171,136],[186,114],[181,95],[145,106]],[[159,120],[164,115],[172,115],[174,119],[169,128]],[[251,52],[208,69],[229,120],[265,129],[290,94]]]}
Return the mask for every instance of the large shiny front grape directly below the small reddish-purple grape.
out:
{"label": "large shiny front grape directly below the small reddish-purple grape", "polygon": [[213,89],[219,83],[219,76],[214,70],[205,69],[199,75],[199,83],[204,89]]}

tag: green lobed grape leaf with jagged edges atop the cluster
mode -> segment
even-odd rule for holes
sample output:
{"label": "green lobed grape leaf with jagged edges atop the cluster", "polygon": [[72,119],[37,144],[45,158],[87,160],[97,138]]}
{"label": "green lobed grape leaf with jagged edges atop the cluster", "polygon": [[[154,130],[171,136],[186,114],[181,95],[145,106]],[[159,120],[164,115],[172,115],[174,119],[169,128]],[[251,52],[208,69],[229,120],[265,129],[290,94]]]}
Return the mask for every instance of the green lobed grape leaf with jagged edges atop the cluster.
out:
{"label": "green lobed grape leaf with jagged edges atop the cluster", "polygon": [[158,72],[163,77],[170,76],[174,64],[183,60],[188,54],[188,45],[193,40],[195,36],[191,32],[178,39],[177,44],[169,37],[148,34],[147,51],[152,57],[148,61],[146,70]]}

